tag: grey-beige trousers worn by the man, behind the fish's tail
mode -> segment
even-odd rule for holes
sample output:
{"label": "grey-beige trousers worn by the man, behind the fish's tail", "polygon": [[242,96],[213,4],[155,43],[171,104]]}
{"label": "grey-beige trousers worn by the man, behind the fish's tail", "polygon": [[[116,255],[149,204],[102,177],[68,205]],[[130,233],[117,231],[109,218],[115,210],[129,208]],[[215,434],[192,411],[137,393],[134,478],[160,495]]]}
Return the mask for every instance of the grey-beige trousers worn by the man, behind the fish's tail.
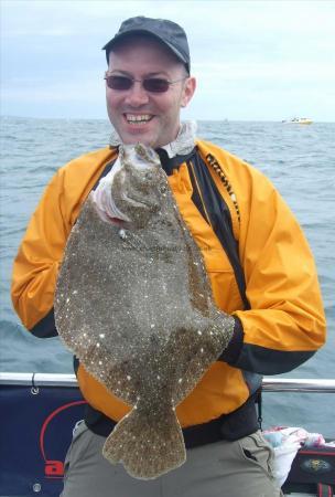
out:
{"label": "grey-beige trousers worn by the man, behind the fish's tail", "polygon": [[260,432],[187,451],[186,463],[152,480],[130,477],[101,455],[105,437],[77,424],[61,497],[280,497],[273,451]]}

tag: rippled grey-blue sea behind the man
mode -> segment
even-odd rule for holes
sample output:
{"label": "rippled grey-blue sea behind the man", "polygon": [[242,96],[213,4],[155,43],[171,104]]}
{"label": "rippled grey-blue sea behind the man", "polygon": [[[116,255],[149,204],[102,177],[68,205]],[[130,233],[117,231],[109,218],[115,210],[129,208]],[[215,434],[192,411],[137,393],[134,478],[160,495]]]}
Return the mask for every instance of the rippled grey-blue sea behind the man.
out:
{"label": "rippled grey-blue sea behind the man", "polygon": [[[229,150],[275,184],[300,221],[315,256],[327,317],[327,342],[284,378],[335,378],[335,124],[198,121],[198,136]],[[39,339],[10,300],[13,258],[47,182],[67,161],[108,144],[105,119],[2,117],[0,186],[0,371],[72,373],[58,338]],[[279,377],[280,378],[280,377]],[[301,426],[335,438],[335,394],[264,393],[263,426]]]}

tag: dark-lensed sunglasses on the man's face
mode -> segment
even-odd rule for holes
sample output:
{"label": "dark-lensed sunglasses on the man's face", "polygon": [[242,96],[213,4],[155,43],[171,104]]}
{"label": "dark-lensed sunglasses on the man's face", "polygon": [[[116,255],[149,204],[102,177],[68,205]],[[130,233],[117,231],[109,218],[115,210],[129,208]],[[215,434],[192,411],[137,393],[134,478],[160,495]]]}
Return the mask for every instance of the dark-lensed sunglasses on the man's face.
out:
{"label": "dark-lensed sunglasses on the man's face", "polygon": [[119,92],[130,89],[134,83],[142,83],[142,86],[147,92],[165,93],[171,85],[179,83],[180,81],[187,80],[187,76],[175,81],[164,80],[163,77],[145,77],[144,80],[134,80],[130,76],[119,76],[106,73],[105,80],[108,88],[117,89]]}

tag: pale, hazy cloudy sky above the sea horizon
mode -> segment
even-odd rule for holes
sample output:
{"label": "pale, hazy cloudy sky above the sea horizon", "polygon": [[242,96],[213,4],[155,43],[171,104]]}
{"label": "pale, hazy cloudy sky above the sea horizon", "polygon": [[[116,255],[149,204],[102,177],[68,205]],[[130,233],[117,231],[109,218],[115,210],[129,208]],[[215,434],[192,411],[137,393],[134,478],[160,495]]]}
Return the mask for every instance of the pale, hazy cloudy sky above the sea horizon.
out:
{"label": "pale, hazy cloudy sky above the sea horizon", "polygon": [[107,118],[104,44],[130,17],[186,31],[184,118],[335,121],[335,0],[0,0],[1,114]]}

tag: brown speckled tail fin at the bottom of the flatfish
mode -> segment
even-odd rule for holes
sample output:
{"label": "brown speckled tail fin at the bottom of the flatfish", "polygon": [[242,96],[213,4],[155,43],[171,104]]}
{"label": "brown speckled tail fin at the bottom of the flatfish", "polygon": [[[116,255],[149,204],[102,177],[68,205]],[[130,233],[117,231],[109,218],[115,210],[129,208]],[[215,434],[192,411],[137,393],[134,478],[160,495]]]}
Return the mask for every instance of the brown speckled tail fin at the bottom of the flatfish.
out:
{"label": "brown speckled tail fin at the bottom of the flatfish", "polygon": [[186,461],[175,411],[170,408],[158,420],[134,408],[108,436],[102,454],[112,464],[122,463],[134,478],[153,479],[175,469]]}

